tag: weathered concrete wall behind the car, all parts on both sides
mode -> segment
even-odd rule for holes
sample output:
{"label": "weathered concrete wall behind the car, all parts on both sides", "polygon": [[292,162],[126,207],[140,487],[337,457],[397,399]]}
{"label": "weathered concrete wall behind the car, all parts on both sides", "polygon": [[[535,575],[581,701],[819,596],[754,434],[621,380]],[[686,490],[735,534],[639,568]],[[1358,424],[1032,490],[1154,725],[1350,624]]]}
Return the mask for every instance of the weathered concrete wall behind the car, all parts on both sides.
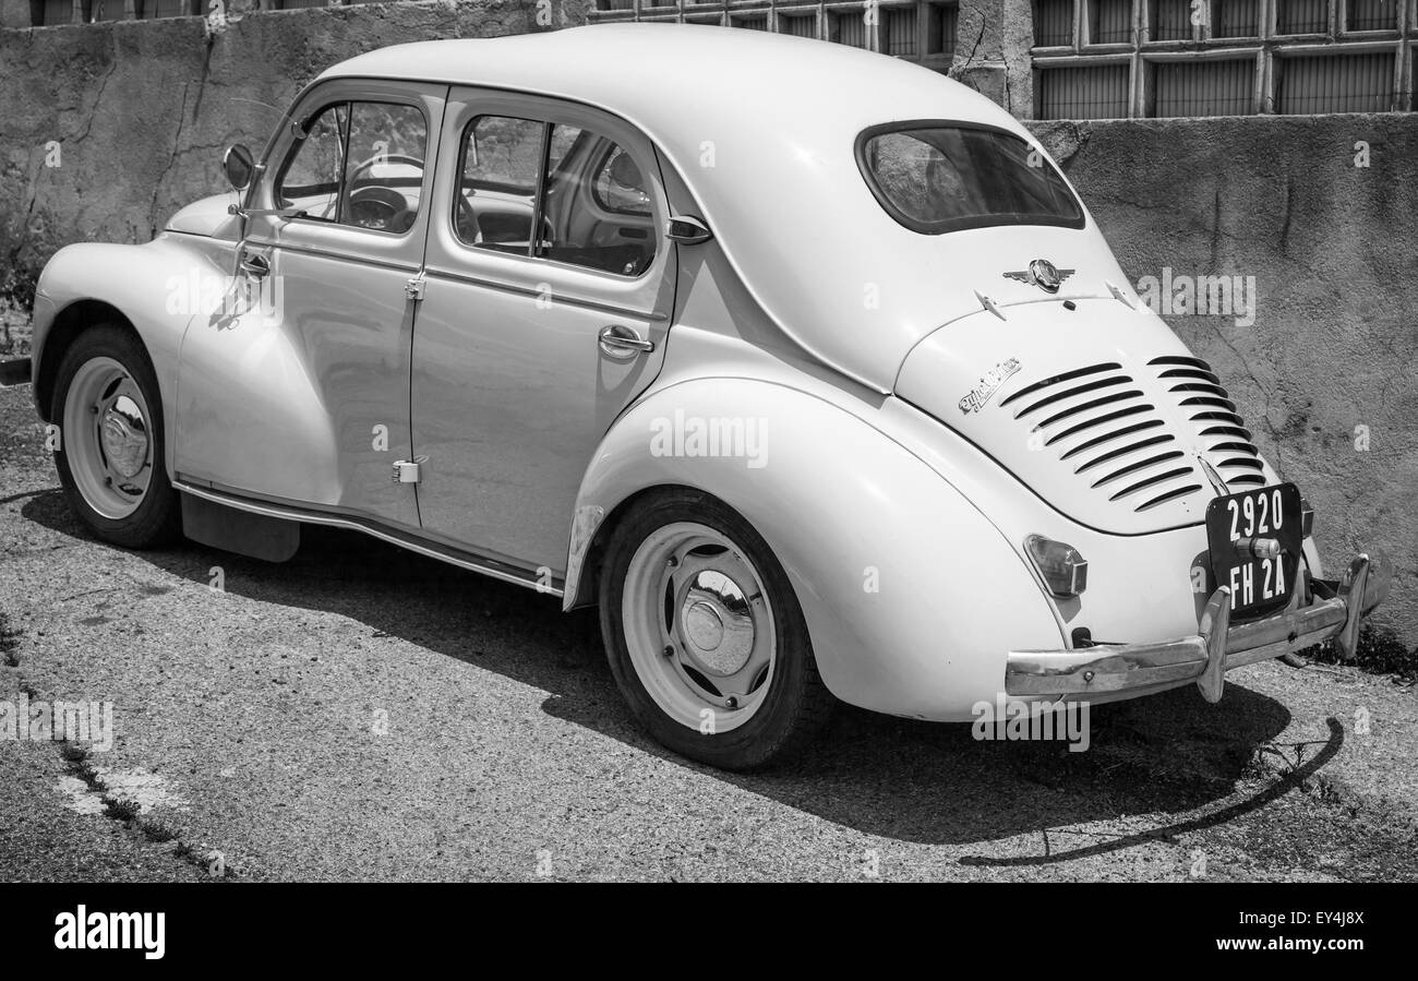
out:
{"label": "weathered concrete wall behind the car, all parts on both sides", "polygon": [[[0,0],[4,23],[14,3]],[[583,18],[584,0],[552,0],[550,26],[533,0],[474,0],[248,13],[218,33],[200,18],[0,30],[0,282],[71,241],[145,241],[223,187],[221,147],[259,146],[332,62]],[[957,74],[1017,113],[1029,71],[1008,52],[1028,31],[1028,0],[961,9]],[[1418,644],[1418,116],[1034,126],[1134,282],[1164,268],[1255,276],[1252,325],[1171,322],[1310,495],[1326,559],[1390,551],[1398,583],[1380,622]],[[1367,167],[1354,166],[1360,140]],[[47,166],[55,143],[60,166]]]}

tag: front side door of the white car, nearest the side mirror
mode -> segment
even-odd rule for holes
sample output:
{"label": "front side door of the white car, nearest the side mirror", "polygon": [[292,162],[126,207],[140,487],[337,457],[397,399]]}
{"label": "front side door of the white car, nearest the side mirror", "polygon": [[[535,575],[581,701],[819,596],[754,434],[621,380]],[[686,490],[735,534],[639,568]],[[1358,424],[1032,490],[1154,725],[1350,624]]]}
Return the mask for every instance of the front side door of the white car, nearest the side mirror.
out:
{"label": "front side door of the white car, nearest the side mirror", "polygon": [[[237,250],[264,302],[183,342],[179,469],[241,493],[418,526],[408,353],[445,86],[337,79],[279,133]],[[278,211],[281,214],[262,214]]]}

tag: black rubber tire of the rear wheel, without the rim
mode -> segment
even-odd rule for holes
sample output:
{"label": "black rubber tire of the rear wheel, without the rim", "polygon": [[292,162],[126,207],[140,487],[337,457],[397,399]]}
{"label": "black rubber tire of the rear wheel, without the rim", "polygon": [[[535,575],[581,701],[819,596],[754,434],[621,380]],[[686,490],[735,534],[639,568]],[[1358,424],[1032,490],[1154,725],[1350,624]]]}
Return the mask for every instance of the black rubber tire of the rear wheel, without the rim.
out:
{"label": "black rubber tire of the rear wheel, without the rim", "polygon": [[[764,700],[746,723],[718,734],[703,734],[661,709],[627,646],[623,598],[631,559],[649,534],[675,522],[705,525],[730,539],[759,570],[774,611],[776,661]],[[753,526],[708,493],[665,490],[632,506],[605,553],[600,618],[611,673],[635,719],[661,744],[691,760],[723,770],[780,763],[811,743],[831,716],[835,699],[818,675],[803,608],[787,574]]]}

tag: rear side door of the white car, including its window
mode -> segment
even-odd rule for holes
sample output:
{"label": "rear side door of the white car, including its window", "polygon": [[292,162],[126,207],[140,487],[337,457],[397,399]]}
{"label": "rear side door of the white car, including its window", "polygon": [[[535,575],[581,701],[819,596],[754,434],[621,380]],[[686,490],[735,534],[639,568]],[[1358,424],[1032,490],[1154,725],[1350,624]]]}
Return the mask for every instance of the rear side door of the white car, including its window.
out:
{"label": "rear side door of the white car, including its window", "polygon": [[508,92],[454,88],[444,132],[457,180],[434,196],[413,354],[423,526],[559,577],[581,475],[664,359],[657,157],[614,116]]}

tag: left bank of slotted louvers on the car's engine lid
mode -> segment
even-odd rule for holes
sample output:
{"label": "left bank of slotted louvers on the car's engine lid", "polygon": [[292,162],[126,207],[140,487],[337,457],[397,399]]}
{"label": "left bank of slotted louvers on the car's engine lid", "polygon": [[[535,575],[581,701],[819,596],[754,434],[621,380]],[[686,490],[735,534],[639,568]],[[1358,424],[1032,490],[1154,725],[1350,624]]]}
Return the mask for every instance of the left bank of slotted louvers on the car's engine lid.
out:
{"label": "left bank of slotted louvers on the car's engine lid", "polygon": [[1000,403],[1109,502],[1146,512],[1204,488],[1157,407],[1116,361],[1035,381]]}

